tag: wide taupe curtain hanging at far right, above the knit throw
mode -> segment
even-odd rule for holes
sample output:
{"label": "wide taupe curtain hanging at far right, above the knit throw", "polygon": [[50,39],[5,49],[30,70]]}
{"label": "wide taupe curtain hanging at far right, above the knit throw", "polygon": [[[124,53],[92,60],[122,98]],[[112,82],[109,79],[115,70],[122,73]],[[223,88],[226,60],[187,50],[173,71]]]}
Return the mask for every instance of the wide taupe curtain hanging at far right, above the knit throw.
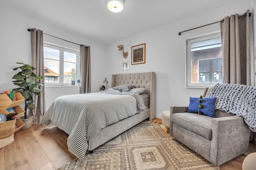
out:
{"label": "wide taupe curtain hanging at far right, above the knit throw", "polygon": [[251,85],[249,10],[220,22],[222,83]]}

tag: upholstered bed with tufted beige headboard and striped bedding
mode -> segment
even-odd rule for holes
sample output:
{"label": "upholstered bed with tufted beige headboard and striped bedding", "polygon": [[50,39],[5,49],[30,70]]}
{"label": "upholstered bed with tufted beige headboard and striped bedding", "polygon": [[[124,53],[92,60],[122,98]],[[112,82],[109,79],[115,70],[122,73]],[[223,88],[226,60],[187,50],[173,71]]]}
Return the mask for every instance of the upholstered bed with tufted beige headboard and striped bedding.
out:
{"label": "upholstered bed with tufted beige headboard and striped bedding", "polygon": [[[109,90],[54,100],[42,123],[52,122],[65,131],[69,135],[68,150],[84,160],[86,151],[92,153],[141,121],[155,118],[155,81],[155,72],[113,74]],[[120,85],[136,87],[133,90],[144,88],[144,92],[131,94],[113,90]],[[141,100],[144,102],[140,103]]]}

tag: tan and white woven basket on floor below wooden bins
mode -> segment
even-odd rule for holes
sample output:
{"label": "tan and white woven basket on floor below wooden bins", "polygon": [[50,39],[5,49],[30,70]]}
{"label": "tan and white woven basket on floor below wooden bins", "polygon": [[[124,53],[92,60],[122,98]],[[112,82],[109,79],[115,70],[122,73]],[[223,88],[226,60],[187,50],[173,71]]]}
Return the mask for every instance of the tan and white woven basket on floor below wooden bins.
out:
{"label": "tan and white woven basket on floor below wooden bins", "polygon": [[16,119],[0,123],[0,148],[10,145],[14,141]]}

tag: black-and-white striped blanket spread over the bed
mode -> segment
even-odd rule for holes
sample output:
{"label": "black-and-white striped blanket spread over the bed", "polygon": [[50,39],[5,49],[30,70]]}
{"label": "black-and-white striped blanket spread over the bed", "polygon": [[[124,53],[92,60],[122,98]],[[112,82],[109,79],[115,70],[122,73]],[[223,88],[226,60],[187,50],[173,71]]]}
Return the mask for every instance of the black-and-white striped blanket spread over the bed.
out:
{"label": "black-and-white striped blanket spread over the bed", "polygon": [[42,123],[52,122],[65,131],[68,150],[84,160],[87,141],[104,127],[138,113],[136,102],[133,96],[101,92],[61,96],[46,111]]}

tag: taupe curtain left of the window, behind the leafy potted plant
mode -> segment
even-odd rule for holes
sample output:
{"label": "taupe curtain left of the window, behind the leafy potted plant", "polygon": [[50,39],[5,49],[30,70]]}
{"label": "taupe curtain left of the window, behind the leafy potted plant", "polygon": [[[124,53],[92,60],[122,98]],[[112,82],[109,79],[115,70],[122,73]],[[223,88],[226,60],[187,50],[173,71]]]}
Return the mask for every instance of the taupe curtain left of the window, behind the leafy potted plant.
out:
{"label": "taupe curtain left of the window, behind the leafy potted plant", "polygon": [[[38,76],[44,77],[44,41],[43,31],[36,30],[33,28],[30,30],[31,33],[31,48],[32,48],[32,66],[36,68],[33,72]],[[40,80],[40,83],[44,85],[44,79]],[[41,125],[42,117],[45,113],[45,93],[44,86],[39,87],[42,92],[41,96],[34,95],[34,105],[36,108],[30,110],[30,115],[33,116],[33,124]]]}

